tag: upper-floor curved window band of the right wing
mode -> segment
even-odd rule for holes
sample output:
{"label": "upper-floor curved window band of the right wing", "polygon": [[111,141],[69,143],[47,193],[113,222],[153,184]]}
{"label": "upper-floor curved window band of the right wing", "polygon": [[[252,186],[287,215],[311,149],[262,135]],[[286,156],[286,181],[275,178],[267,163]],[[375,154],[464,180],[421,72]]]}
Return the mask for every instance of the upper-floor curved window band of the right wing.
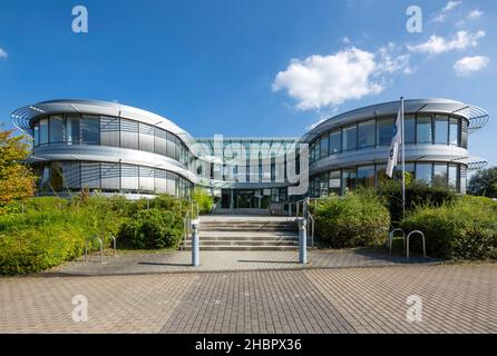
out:
{"label": "upper-floor curved window band of the right wing", "polygon": [[[394,119],[368,119],[324,132],[310,145],[310,162],[341,152],[390,146]],[[467,120],[448,115],[406,115],[405,130],[407,145],[468,145]]]}

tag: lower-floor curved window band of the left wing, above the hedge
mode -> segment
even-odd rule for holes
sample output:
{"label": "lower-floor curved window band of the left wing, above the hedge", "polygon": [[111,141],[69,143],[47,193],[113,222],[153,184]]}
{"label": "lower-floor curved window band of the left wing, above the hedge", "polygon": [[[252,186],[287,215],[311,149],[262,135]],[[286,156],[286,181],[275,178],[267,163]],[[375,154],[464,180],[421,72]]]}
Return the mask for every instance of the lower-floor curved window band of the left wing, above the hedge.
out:
{"label": "lower-floor curved window band of the left wing, above the hedge", "polygon": [[182,176],[152,167],[91,161],[51,161],[36,167],[41,195],[81,189],[188,197],[193,185]]}

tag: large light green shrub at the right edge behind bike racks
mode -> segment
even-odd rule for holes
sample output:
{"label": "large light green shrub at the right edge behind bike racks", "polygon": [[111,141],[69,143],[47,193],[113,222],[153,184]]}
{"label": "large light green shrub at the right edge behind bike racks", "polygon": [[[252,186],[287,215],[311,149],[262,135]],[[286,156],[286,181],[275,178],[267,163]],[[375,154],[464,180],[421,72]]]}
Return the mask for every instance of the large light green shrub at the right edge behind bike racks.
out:
{"label": "large light green shrub at the right edge behind bike racks", "polygon": [[[419,206],[401,227],[421,230],[427,254],[433,257],[497,258],[497,202],[491,199],[465,196],[440,207]],[[419,248],[419,240],[413,243],[413,248]]]}

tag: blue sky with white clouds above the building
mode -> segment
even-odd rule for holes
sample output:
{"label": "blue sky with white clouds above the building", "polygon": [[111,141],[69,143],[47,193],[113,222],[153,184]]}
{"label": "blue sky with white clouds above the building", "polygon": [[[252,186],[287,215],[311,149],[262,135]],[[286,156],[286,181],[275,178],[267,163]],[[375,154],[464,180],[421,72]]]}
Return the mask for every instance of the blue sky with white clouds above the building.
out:
{"label": "blue sky with white clouds above the building", "polygon": [[[497,165],[497,3],[416,1],[2,1],[0,118],[28,103],[117,100],[193,136],[300,136],[320,119],[406,98],[480,106],[470,151]],[[89,12],[74,33],[74,6]]]}

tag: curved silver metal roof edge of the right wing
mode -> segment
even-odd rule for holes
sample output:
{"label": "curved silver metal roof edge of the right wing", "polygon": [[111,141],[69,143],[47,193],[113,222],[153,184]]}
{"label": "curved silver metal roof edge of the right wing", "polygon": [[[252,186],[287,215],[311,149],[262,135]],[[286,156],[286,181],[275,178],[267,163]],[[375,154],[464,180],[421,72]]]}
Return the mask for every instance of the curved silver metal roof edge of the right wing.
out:
{"label": "curved silver metal roof edge of the right wing", "polygon": [[[321,122],[315,128],[306,132],[302,137],[301,141],[311,142],[322,132],[341,125],[352,123],[355,121],[361,121],[379,116],[397,115],[399,110],[399,103],[400,103],[399,100],[382,102],[340,113]],[[472,105],[467,105],[461,101],[449,100],[449,99],[405,100],[405,112],[406,113],[440,112],[440,113],[457,115],[469,120],[468,130],[470,134],[483,128],[489,120],[489,115],[485,109],[481,109]]]}

